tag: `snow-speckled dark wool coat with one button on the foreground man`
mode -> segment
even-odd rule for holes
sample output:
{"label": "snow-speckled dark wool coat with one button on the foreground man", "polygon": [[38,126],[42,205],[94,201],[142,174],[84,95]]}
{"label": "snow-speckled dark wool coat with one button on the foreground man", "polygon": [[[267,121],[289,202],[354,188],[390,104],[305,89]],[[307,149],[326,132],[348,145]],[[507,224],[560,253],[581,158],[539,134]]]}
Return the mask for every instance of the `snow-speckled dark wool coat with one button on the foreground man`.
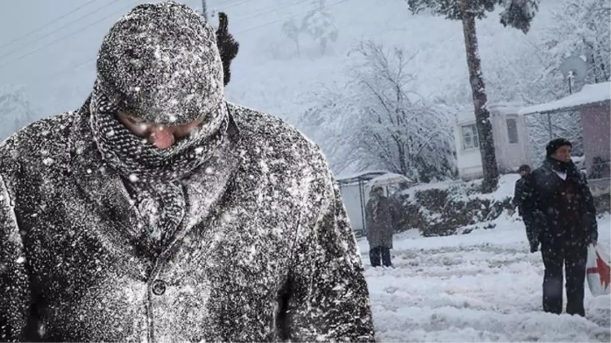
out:
{"label": "snow-speckled dark wool coat with one button on the foreground man", "polygon": [[227,140],[185,179],[156,259],[89,106],[0,148],[0,341],[373,342],[367,284],[320,150],[228,105]]}

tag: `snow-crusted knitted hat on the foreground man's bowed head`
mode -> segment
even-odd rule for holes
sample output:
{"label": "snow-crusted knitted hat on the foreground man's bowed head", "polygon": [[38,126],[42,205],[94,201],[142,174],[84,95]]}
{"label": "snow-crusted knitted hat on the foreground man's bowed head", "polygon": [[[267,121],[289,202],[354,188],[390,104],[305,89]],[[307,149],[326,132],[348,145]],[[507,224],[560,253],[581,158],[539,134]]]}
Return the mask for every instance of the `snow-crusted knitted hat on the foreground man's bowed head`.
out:
{"label": "snow-crusted knitted hat on the foreground man's bowed head", "polygon": [[120,110],[149,123],[181,125],[224,101],[213,28],[174,1],[134,7],[104,37],[101,90]]}

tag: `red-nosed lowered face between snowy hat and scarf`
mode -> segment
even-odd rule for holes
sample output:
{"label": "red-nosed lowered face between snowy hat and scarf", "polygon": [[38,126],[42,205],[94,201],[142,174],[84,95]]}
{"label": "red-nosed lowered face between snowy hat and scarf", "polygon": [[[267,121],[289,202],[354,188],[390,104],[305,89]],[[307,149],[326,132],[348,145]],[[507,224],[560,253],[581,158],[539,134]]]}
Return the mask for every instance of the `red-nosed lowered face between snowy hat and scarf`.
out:
{"label": "red-nosed lowered face between snowy hat and scarf", "polygon": [[134,135],[147,139],[159,149],[167,149],[197,128],[203,122],[203,117],[185,125],[159,125],[145,123],[125,112],[119,112],[119,121]]}

